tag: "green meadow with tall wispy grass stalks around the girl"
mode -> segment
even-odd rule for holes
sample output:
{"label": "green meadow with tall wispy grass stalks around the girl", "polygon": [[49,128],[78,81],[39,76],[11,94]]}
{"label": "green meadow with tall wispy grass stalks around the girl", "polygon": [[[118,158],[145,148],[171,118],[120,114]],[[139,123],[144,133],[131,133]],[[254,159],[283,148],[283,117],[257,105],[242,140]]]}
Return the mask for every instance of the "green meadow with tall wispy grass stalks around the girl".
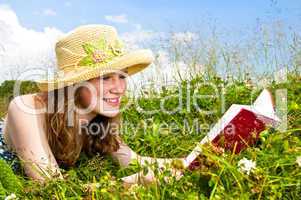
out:
{"label": "green meadow with tall wispy grass stalks around the girl", "polygon": [[[262,38],[267,40],[266,37]],[[285,69],[285,80],[282,81],[277,80],[277,76],[275,78],[280,69],[279,62],[275,62],[274,54],[270,53],[274,51],[265,45],[260,46],[269,41],[260,43],[257,40],[258,43],[253,44],[254,48],[261,47],[254,51],[254,55],[266,55],[263,60],[257,61],[250,59],[249,54],[245,55],[241,47],[236,47],[233,52],[233,48],[228,46],[217,47],[216,38],[214,41],[214,45],[207,43],[212,46],[199,46],[197,49],[208,50],[201,54],[187,53],[187,43],[177,48],[171,45],[167,47],[176,59],[190,56],[191,76],[179,76],[177,84],[172,87],[149,87],[141,90],[137,97],[123,98],[122,103],[127,107],[123,111],[124,125],[120,134],[124,141],[141,155],[184,157],[231,104],[251,104],[262,88],[268,88],[274,97],[277,96],[277,91],[285,91],[286,109],[282,111],[287,116],[285,129],[268,127],[261,132],[255,145],[237,155],[228,151],[216,152],[210,145],[205,146],[202,167],[194,171],[185,170],[180,180],[173,178],[168,170],[157,173],[156,166],[151,166],[154,167],[158,182],[136,184],[130,188],[125,188],[120,178],[146,169],[135,163],[127,168],[120,168],[106,155],[89,158],[82,154],[76,167],[62,169],[65,180],[53,179],[47,185],[28,180],[23,171],[14,173],[10,163],[0,160],[0,198],[15,194],[19,199],[300,199],[300,38],[293,37],[291,43],[284,42],[282,50],[291,49],[285,58],[279,57],[283,54],[275,54],[280,61],[288,60],[281,64]],[[189,48],[191,49],[193,48]],[[221,49],[223,51],[218,52]],[[238,56],[238,53],[243,56]],[[191,64],[196,58],[203,63],[201,72],[196,69],[198,66]],[[223,73],[218,71],[220,58],[225,66]],[[259,63],[275,67],[258,75],[246,67],[253,69],[252,66]],[[193,99],[196,93],[212,96],[198,98],[196,102],[187,100]],[[162,99],[163,105],[160,104]],[[3,100],[1,111],[5,110],[5,103],[7,102]],[[179,105],[181,109],[177,110]],[[166,112],[173,110],[175,112],[172,114]],[[281,114],[281,110],[279,112]],[[248,173],[239,165],[246,159],[256,163]],[[171,179],[165,182],[164,177]]]}

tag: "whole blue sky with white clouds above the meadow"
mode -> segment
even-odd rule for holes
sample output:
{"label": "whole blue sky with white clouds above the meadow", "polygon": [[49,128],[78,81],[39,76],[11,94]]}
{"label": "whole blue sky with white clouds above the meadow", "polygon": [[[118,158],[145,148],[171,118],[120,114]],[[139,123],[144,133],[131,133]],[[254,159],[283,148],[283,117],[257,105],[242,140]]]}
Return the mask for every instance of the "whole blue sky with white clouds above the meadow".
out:
{"label": "whole blue sky with white clouds above the meadow", "polygon": [[[210,37],[215,31],[221,42],[235,46],[247,44],[248,40],[257,41],[256,33],[262,25],[277,34],[274,29],[278,22],[281,22],[280,31],[291,40],[292,33],[301,35],[300,21],[300,0],[0,0],[0,82],[24,74],[20,68],[55,67],[55,42],[82,24],[113,25],[129,46],[151,48],[161,56],[162,65],[171,68],[170,55],[156,49],[160,46],[154,43],[160,36],[168,36],[165,33],[176,33],[178,39],[200,36],[211,44]],[[285,44],[289,46],[289,42]],[[210,45],[202,52],[209,50]],[[242,55],[252,53],[248,46],[246,52],[238,47],[229,51],[233,50]],[[288,49],[271,50],[283,54],[283,63],[289,60]],[[254,57],[246,59],[253,62],[263,57],[260,51],[253,54]],[[272,54],[270,57],[275,60]],[[180,64],[187,65],[184,61]],[[268,65],[259,61],[256,68],[262,70]],[[223,64],[218,67],[225,68]],[[171,74],[168,70],[166,73]]]}

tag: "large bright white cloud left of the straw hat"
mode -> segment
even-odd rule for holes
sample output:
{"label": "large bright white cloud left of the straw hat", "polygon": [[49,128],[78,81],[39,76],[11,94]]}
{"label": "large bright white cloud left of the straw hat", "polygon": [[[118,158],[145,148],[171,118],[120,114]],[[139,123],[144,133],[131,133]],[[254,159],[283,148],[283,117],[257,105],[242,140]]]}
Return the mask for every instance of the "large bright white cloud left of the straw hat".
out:
{"label": "large bright white cloud left of the straw hat", "polygon": [[0,5],[0,81],[18,78],[29,68],[54,69],[54,46],[62,35],[54,27],[43,31],[25,28],[9,6]]}

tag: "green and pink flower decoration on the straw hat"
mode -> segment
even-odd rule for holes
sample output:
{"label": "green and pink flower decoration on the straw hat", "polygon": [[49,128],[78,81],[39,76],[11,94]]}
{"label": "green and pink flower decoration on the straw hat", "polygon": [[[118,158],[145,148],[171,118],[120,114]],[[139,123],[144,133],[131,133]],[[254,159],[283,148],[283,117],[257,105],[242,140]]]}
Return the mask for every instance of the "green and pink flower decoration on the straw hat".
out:
{"label": "green and pink flower decoration on the straw hat", "polygon": [[124,54],[123,44],[118,39],[108,43],[104,37],[100,37],[99,41],[85,43],[82,47],[86,56],[78,62],[79,66],[98,66]]}

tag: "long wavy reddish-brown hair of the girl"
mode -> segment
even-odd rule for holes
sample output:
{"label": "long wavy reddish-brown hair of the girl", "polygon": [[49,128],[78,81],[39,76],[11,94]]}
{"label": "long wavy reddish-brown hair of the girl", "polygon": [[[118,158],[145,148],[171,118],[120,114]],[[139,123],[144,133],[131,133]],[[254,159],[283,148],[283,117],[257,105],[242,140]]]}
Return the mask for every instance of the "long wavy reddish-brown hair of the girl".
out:
{"label": "long wavy reddish-brown hair of the girl", "polygon": [[[78,114],[75,108],[69,108],[70,100],[68,99],[68,87],[55,89],[49,93],[38,93],[36,102],[41,102],[47,106],[47,111],[51,108],[51,112],[45,113],[45,131],[47,133],[48,143],[59,165],[73,166],[82,151],[89,156],[95,153],[114,152],[119,148],[118,128],[120,125],[120,114],[116,117],[109,118],[98,114],[89,122],[97,123],[100,127],[98,134],[91,133],[90,130],[79,125]],[[70,89],[70,88],[69,88]],[[82,87],[78,87],[74,92],[75,106],[81,107],[80,91]],[[64,98],[62,100],[62,95]],[[52,107],[51,107],[52,106]],[[68,110],[69,109],[69,110]],[[73,113],[73,126],[68,126],[68,113]],[[114,125],[114,126],[112,126]],[[104,132],[104,130],[107,130]]]}

